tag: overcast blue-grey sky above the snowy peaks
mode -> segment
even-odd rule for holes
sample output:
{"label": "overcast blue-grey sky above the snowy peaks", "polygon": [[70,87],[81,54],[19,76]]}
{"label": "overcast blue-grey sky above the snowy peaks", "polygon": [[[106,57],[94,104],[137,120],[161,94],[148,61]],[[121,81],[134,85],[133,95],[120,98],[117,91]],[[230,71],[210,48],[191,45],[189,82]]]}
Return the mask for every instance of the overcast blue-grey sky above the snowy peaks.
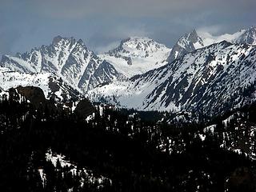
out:
{"label": "overcast blue-grey sky above the snowy peaks", "polygon": [[255,0],[0,0],[0,55],[82,38],[95,52],[147,36],[172,46],[184,33],[232,33],[256,25]]}

